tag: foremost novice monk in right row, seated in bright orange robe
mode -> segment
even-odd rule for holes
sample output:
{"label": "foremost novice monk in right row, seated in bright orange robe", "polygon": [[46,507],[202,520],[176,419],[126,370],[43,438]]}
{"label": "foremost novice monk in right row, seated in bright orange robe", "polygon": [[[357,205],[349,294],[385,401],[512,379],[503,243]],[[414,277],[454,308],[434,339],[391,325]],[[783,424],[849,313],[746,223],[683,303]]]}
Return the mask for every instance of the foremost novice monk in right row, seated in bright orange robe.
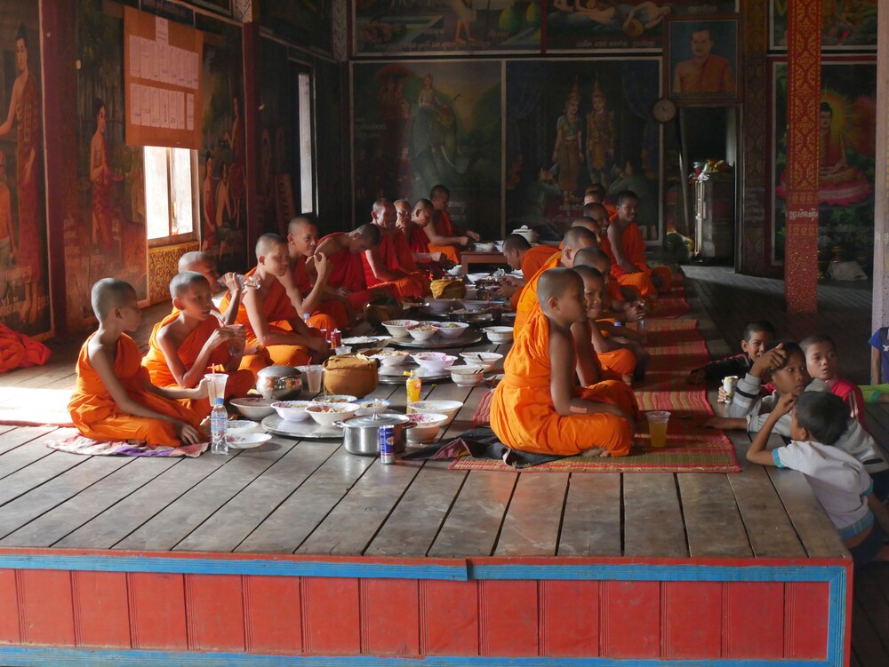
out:
{"label": "foremost novice monk in right row, seated in bright orange robe", "polygon": [[494,391],[493,432],[511,448],[538,454],[626,456],[637,417],[632,391],[614,380],[573,382],[572,325],[587,320],[581,276],[550,269],[537,295],[539,307],[509,351]]}

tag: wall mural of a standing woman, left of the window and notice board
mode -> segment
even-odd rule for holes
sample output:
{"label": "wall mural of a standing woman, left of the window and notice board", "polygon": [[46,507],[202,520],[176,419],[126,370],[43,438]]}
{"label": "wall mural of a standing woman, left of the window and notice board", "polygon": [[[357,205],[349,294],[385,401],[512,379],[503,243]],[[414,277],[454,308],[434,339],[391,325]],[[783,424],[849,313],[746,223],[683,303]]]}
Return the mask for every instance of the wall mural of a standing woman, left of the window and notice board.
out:
{"label": "wall mural of a standing woman, left of the window and notice board", "polygon": [[81,193],[66,238],[68,312],[92,317],[100,278],[129,282],[148,298],[142,151],[124,143],[124,20],[100,0],[77,4],[77,175]]}

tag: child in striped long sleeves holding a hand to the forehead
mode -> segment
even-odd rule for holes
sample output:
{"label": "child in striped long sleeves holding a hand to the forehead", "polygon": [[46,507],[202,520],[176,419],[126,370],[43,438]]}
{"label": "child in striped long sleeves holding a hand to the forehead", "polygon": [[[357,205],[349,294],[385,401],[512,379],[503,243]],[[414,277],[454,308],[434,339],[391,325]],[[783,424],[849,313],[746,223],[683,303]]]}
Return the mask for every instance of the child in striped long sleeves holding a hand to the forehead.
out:
{"label": "child in striped long sleeves holding a hand to the forehead", "polygon": [[[759,398],[760,384],[771,377],[774,392]],[[769,419],[775,405],[786,394],[801,396],[803,393],[829,393],[828,385],[812,379],[805,368],[803,350],[791,340],[771,343],[769,349],[754,361],[749,373],[738,381],[729,406],[731,417],[711,417],[707,425],[713,428],[744,429],[758,433]],[[848,422],[843,436],[836,446],[858,459],[874,479],[874,493],[880,500],[889,496],[889,464],[886,463],[877,443],[861,428],[858,420],[846,417]],[[790,437],[790,418],[777,418],[772,426],[774,433]]]}

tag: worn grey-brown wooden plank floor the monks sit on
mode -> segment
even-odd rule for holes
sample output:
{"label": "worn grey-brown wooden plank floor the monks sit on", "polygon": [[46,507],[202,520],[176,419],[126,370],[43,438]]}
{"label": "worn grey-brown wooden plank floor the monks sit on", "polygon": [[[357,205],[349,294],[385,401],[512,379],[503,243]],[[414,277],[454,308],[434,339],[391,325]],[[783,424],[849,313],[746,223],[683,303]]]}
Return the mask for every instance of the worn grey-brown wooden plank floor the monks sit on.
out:
{"label": "worn grey-brown wooden plank floor the monks sit on", "polygon": [[[780,294],[780,282],[762,284],[720,268],[687,273],[692,316],[715,356],[733,351],[726,340],[740,339],[743,323],[754,317],[772,319],[794,336],[810,332],[790,325],[778,298],[764,299],[765,307],[753,296],[738,298],[741,289]],[[831,288],[826,299],[837,312],[809,322],[838,341],[853,337],[866,345],[869,292]],[[165,310],[145,314],[141,343]],[[49,366],[0,376],[0,386],[70,385],[79,344],[54,346]],[[853,377],[863,379],[858,371]],[[465,401],[448,433],[456,434],[469,427],[485,389],[446,384],[423,393]],[[373,395],[404,407],[403,385],[382,385]],[[885,411],[870,410],[869,419],[877,440],[889,442]],[[339,443],[284,438],[231,457],[76,457],[44,447],[61,432],[0,426],[0,546],[420,558],[844,553],[800,475],[746,464],[746,435],[733,437],[743,467],[736,474],[572,476],[451,471],[438,462],[387,466],[353,457]],[[853,664],[889,664],[889,568],[871,566],[855,577]]]}

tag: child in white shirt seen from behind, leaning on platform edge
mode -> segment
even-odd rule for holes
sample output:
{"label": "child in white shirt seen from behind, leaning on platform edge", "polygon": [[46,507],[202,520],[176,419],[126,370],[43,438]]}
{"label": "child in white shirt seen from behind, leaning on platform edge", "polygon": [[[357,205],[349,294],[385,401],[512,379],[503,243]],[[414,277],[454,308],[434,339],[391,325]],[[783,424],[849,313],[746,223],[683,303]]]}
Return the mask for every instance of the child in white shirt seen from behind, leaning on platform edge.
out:
{"label": "child in white shirt seen from behind, leaning on platform edge", "polygon": [[[774,426],[791,409],[790,444],[766,451]],[[889,560],[889,544],[884,544],[889,516],[874,496],[874,484],[864,466],[837,447],[847,424],[856,422],[847,418],[839,397],[816,392],[795,398],[785,393],[750,445],[747,460],[802,472],[852,552],[855,565],[861,566],[871,560]]]}

